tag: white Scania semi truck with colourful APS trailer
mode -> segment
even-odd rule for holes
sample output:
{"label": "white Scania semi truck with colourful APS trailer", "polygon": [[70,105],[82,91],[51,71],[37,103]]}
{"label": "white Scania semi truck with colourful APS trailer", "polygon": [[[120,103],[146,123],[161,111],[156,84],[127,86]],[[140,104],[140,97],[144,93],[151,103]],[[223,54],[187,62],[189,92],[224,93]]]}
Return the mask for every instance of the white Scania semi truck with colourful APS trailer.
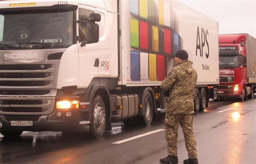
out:
{"label": "white Scania semi truck with colourful APS trailer", "polygon": [[198,74],[195,111],[216,97],[218,23],[167,0],[0,1],[0,133],[150,125],[177,50]]}

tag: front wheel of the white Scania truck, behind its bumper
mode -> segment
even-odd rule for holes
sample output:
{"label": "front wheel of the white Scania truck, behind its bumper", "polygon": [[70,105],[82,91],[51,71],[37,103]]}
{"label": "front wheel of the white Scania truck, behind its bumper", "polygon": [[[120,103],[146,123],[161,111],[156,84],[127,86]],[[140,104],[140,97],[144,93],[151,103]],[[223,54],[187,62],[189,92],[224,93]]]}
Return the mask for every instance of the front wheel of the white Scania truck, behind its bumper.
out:
{"label": "front wheel of the white Scania truck, behind its bumper", "polygon": [[104,134],[107,120],[104,100],[100,95],[94,97],[91,110],[90,131],[95,138],[100,138]]}

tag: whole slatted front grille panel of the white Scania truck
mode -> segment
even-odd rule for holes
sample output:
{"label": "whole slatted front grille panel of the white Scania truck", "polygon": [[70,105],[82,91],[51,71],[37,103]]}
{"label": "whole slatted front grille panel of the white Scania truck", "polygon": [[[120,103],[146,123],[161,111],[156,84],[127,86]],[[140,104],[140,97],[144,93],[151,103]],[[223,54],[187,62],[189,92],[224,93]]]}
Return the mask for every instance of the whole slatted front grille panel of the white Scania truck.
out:
{"label": "whole slatted front grille panel of the white Scania truck", "polygon": [[[0,114],[28,120],[54,112],[57,72],[65,49],[0,51]],[[6,60],[4,54],[35,53],[37,59]],[[57,56],[56,56],[57,54]],[[37,118],[35,118],[37,120]]]}

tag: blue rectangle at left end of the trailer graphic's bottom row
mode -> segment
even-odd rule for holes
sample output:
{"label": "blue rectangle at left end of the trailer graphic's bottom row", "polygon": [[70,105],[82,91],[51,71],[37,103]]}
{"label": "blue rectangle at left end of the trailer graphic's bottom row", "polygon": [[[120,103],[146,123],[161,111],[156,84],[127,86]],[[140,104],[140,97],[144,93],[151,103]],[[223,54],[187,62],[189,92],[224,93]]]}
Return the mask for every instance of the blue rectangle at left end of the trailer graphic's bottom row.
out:
{"label": "blue rectangle at left end of the trailer graphic's bottom row", "polygon": [[130,62],[131,62],[131,80],[139,81],[140,80],[140,64],[139,64],[139,52],[131,51],[130,52]]}

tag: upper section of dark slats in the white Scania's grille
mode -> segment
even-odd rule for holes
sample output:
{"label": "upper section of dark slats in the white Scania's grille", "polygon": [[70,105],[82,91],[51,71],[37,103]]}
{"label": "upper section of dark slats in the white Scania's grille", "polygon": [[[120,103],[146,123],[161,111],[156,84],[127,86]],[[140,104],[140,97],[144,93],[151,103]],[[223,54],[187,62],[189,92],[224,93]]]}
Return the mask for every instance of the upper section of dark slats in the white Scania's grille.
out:
{"label": "upper section of dark slats in the white Scania's grille", "polygon": [[55,88],[56,61],[52,64],[0,65],[0,88]]}

